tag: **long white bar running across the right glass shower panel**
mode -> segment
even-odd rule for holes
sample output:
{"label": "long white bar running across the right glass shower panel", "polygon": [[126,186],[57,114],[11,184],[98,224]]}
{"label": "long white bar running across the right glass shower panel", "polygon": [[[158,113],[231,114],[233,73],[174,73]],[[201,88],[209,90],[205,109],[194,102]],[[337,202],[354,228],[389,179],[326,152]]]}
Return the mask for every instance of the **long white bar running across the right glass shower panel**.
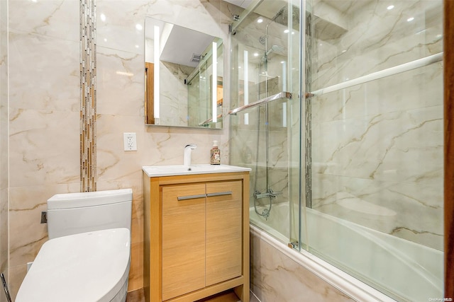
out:
{"label": "long white bar running across the right glass shower panel", "polygon": [[412,69],[417,69],[419,67],[427,66],[436,62],[440,62],[443,60],[443,52],[438,52],[438,54],[432,54],[431,56],[428,57],[423,57],[421,59],[416,59],[414,61],[400,64],[397,66],[390,67],[388,69],[383,69],[377,72],[373,72],[372,74],[366,74],[365,76],[360,76],[359,78],[350,80],[350,81],[345,81],[343,83],[338,83],[333,86],[328,86],[326,88],[321,88],[316,91],[312,91],[309,93],[310,96],[313,95],[323,95],[326,93],[331,93],[334,91],[339,91],[343,88],[349,88],[352,86],[360,85],[363,83],[367,83],[370,81],[374,81],[377,79],[382,79],[387,76],[394,76],[394,74],[400,74],[405,71],[410,71]]}

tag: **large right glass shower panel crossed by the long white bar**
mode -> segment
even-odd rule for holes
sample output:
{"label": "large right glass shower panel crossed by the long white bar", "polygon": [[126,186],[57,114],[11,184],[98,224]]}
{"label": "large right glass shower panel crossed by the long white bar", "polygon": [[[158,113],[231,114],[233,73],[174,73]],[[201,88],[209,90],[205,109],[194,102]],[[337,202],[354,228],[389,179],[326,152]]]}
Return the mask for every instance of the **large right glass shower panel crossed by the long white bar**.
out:
{"label": "large right glass shower panel crossed by the long white bar", "polygon": [[398,301],[443,296],[442,1],[314,3],[309,251]]}

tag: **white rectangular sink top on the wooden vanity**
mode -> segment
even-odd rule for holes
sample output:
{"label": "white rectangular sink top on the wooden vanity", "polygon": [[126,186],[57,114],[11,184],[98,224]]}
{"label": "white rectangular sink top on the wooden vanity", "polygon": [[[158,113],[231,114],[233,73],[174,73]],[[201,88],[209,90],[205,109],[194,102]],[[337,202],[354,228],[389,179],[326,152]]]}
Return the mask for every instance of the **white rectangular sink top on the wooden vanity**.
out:
{"label": "white rectangular sink top on the wooden vanity", "polygon": [[237,167],[235,165],[144,165],[142,170],[148,177],[191,175],[206,173],[226,173],[250,171],[250,168]]}

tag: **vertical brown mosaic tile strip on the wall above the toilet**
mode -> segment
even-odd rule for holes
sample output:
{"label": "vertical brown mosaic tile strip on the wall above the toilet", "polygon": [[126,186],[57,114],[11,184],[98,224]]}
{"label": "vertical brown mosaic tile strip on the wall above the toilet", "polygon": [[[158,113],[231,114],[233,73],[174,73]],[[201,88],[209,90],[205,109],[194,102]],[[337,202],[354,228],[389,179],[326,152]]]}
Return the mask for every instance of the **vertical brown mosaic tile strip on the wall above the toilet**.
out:
{"label": "vertical brown mosaic tile strip on the wall above the toilet", "polygon": [[80,0],[80,191],[96,191],[96,0]]}

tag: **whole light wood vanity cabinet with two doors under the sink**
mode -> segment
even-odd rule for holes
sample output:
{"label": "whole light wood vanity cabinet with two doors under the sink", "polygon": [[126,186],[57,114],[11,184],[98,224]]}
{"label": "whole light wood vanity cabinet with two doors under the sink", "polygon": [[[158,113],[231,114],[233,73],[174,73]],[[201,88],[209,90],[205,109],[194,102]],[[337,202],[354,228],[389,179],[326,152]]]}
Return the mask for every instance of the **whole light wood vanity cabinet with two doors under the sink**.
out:
{"label": "whole light wood vanity cabinet with two doors under the sink", "polygon": [[144,174],[145,301],[249,301],[249,173]]}

